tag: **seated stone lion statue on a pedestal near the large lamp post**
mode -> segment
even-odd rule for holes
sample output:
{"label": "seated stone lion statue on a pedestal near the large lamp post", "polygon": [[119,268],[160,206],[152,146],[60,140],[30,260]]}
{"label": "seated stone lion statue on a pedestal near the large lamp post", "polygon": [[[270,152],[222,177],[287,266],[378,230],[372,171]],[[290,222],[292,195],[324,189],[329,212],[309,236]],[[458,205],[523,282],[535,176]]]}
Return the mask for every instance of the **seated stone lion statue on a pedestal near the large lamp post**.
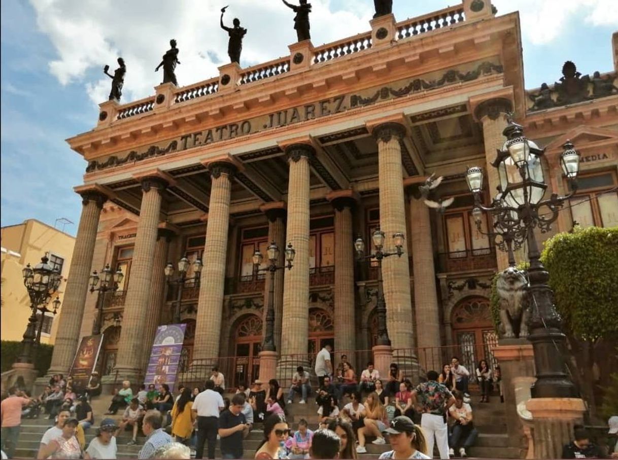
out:
{"label": "seated stone lion statue on a pedestal near the large lamp post", "polygon": [[528,281],[525,273],[515,267],[507,268],[498,275],[496,291],[500,298],[502,337],[528,337]]}

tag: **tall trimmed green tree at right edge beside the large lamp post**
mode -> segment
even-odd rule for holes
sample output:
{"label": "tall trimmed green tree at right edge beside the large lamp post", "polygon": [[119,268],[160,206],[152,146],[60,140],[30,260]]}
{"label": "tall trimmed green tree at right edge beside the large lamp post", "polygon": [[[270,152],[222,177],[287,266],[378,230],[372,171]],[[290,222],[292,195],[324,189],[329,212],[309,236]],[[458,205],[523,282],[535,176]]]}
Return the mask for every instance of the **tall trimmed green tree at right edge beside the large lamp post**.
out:
{"label": "tall trimmed green tree at right edge beside the large lamp post", "polygon": [[580,388],[594,414],[595,364],[601,385],[609,384],[616,369],[618,227],[559,233],[545,242],[541,261],[577,361]]}

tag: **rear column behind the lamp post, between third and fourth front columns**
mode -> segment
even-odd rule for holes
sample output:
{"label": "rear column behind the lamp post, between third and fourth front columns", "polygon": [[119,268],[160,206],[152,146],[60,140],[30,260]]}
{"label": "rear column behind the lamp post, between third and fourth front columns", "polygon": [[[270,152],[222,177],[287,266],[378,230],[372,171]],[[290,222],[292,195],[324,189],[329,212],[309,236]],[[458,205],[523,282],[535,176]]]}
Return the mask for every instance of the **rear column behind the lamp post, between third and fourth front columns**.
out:
{"label": "rear column behind the lamp post, between third and fourth front columns", "polygon": [[[276,212],[279,211],[279,212]],[[268,216],[268,240],[275,241],[279,246],[279,259],[277,267],[282,267],[286,261],[286,211],[284,209],[273,209],[267,212]],[[266,254],[264,254],[266,256]],[[274,344],[277,351],[281,351],[281,328],[283,320],[283,279],[284,270],[277,270],[274,274]],[[264,285],[264,317],[262,335],[266,333],[266,312],[270,301],[270,274],[266,272],[266,283]]]}

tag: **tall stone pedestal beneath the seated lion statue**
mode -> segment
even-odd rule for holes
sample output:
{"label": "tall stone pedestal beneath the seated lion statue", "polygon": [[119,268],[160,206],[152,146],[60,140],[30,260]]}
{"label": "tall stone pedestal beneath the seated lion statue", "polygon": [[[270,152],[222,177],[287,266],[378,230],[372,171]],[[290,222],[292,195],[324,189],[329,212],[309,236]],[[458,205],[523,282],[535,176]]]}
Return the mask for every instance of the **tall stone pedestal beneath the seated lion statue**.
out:
{"label": "tall stone pedestal beneath the seated lion statue", "polygon": [[494,357],[500,364],[502,372],[502,394],[506,409],[506,427],[510,445],[527,446],[523,424],[517,413],[517,398],[514,379],[517,377],[534,377],[535,362],[532,345],[524,339],[501,340],[501,345],[493,348]]}

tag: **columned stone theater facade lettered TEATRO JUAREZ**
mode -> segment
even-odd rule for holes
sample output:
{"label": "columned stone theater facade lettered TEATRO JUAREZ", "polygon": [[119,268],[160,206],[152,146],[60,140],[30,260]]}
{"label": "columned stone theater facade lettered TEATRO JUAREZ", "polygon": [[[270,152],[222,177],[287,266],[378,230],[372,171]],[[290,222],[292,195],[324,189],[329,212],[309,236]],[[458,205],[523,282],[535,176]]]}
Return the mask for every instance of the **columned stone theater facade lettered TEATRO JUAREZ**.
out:
{"label": "columned stone theater facade lettered TEATRO JUAREZ", "polygon": [[[67,374],[80,337],[93,333],[89,277],[109,264],[124,279],[101,300],[104,382],[140,381],[156,327],[178,319],[187,324],[181,373],[218,363],[228,386],[255,380],[271,283],[252,256],[261,251],[265,266],[271,241],[279,264],[288,243],[295,249],[293,267],[274,277],[280,362],[310,362],[330,343],[364,366],[377,338],[378,267],[358,261],[353,241],[370,246],[376,228],[386,250],[405,235],[404,255],[383,261],[392,348],[425,369],[452,354],[496,364],[489,288],[507,259],[474,225],[465,171],[488,172],[489,203],[490,164],[514,112],[546,148],[548,194],[567,191],[565,141],[582,154],[580,190],[552,231],[618,225],[618,35],[607,37],[611,72],[577,69],[590,73],[582,77],[567,63],[526,90],[519,14],[494,14],[489,1],[387,15],[370,29],[101,104],[96,126],[68,140],[88,166],[75,187],[82,217],[50,373]],[[442,212],[419,192],[433,173],[444,177],[433,199],[454,198]],[[198,277],[188,268],[179,293],[164,269],[183,256],[203,267]]]}

